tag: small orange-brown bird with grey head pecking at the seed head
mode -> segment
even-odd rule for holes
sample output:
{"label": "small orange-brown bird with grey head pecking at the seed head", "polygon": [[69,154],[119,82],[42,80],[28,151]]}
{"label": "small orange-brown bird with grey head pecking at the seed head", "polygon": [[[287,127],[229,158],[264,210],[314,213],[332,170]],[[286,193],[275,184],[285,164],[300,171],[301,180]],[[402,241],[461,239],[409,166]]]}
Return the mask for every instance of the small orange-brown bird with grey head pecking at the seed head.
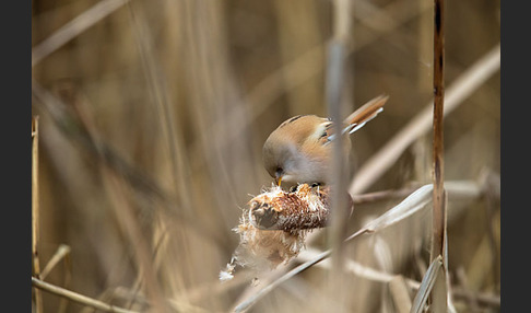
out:
{"label": "small orange-brown bird with grey head pecking at the seed head", "polygon": [[[342,125],[342,135],[362,128],[384,111],[388,95],[379,95],[349,115]],[[263,165],[274,178],[296,184],[326,185],[331,170],[333,134],[331,118],[316,115],[297,115],[284,120],[271,132],[262,148]],[[344,153],[349,154],[352,143],[345,140]]]}

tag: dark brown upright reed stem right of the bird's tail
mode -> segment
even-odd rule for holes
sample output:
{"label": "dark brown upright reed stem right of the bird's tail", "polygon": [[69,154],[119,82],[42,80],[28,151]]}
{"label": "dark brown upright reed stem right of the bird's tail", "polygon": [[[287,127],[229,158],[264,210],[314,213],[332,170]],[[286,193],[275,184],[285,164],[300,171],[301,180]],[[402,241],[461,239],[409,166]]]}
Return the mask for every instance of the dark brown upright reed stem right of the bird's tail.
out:
{"label": "dark brown upright reed stem right of the bird's tail", "polygon": [[445,32],[444,0],[434,0],[434,119],[433,119],[433,161],[434,161],[434,211],[433,211],[433,262],[444,255],[445,239],[445,163],[444,163],[444,103],[445,103]]}

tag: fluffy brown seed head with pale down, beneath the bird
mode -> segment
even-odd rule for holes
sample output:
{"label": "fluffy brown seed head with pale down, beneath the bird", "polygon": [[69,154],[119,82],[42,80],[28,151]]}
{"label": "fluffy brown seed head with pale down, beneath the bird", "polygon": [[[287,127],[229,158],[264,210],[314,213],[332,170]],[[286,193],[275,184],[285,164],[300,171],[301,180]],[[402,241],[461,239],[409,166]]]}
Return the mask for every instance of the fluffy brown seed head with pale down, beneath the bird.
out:
{"label": "fluffy brown seed head with pale down, beneath the bird", "polygon": [[253,197],[234,229],[239,245],[220,280],[233,278],[236,265],[256,270],[273,269],[298,255],[306,234],[327,224],[329,187],[302,184],[293,192],[279,186]]}

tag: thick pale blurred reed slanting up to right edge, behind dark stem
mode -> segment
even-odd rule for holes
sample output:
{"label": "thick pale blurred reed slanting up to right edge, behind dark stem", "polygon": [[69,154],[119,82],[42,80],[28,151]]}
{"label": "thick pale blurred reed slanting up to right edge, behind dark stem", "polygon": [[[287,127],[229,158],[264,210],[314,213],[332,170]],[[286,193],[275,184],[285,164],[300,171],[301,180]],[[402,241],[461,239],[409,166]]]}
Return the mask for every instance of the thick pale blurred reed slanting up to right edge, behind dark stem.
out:
{"label": "thick pale blurred reed slanting up to right edge, behind dark stem", "polygon": [[[499,69],[499,66],[500,45],[498,43],[498,45],[457,78],[446,90],[444,114],[447,115],[458,107],[491,78]],[[357,171],[349,188],[351,195],[365,192],[389,170],[416,138],[429,130],[432,118],[433,100]]]}

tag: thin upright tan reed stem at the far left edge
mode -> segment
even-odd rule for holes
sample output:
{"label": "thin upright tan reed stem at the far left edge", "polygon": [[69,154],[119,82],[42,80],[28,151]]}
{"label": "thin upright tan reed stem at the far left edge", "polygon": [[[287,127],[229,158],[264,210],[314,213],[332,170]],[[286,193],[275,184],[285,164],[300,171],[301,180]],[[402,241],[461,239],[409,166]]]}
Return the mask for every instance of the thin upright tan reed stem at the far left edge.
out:
{"label": "thin upright tan reed stem at the far left edge", "polygon": [[[33,276],[40,278],[40,263],[38,259],[38,116],[32,117],[32,256]],[[35,290],[35,311],[43,312],[43,298]]]}

